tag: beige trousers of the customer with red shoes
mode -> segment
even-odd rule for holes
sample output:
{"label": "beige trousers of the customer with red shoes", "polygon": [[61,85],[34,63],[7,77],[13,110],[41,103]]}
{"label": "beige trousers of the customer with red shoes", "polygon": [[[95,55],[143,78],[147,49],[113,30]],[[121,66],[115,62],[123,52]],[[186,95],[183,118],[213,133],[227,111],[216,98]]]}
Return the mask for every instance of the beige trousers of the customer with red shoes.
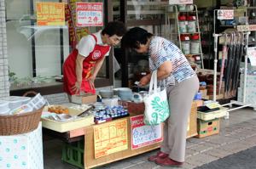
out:
{"label": "beige trousers of the customer with red shoes", "polygon": [[185,161],[188,118],[198,89],[197,76],[166,88],[171,114],[164,124],[164,140],[160,150],[169,154],[174,161]]}

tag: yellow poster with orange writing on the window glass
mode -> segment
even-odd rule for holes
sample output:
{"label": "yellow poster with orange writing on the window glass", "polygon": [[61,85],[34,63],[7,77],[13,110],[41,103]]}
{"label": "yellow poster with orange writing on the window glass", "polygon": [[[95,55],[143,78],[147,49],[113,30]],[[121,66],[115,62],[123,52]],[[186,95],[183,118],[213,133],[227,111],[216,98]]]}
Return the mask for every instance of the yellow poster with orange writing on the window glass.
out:
{"label": "yellow poster with orange writing on the window glass", "polygon": [[65,25],[65,3],[37,3],[38,25]]}

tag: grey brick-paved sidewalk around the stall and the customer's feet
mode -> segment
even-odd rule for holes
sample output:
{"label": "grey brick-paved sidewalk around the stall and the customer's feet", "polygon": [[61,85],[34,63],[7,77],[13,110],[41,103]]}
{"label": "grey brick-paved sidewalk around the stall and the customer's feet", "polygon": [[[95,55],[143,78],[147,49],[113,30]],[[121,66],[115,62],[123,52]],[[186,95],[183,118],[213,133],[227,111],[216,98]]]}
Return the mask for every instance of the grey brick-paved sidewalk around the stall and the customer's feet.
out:
{"label": "grey brick-paved sidewalk around the stall and the customer's feet", "polygon": [[[230,112],[229,120],[221,120],[218,135],[207,138],[189,138],[187,140],[186,161],[182,168],[195,168],[243,149],[256,146],[256,111],[245,108]],[[75,169],[61,161],[61,145],[58,139],[44,141],[45,169]],[[158,149],[137,155],[122,161],[97,167],[98,169],[137,169],[166,168],[147,161]]]}

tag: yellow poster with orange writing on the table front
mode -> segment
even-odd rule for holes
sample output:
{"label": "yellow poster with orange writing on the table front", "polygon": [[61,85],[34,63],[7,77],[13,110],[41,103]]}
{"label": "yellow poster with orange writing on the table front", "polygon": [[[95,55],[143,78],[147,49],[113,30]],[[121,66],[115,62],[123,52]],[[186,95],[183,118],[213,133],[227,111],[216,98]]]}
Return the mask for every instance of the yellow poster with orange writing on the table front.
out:
{"label": "yellow poster with orange writing on the table front", "polygon": [[94,127],[95,158],[128,149],[127,119]]}

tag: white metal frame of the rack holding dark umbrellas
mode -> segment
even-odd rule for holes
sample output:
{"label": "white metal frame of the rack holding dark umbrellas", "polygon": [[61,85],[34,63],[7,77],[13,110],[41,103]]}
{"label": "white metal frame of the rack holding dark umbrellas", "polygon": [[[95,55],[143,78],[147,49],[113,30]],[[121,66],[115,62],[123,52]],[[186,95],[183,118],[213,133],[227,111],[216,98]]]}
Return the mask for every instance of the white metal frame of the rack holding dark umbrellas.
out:
{"label": "white metal frame of the rack holding dark umbrellas", "polygon": [[[215,31],[215,25],[216,25],[216,14],[218,12],[218,9],[214,10],[214,74],[213,74],[213,101],[216,101],[216,93],[217,93],[217,65],[218,65],[218,38],[219,37],[225,37],[225,33],[216,33]],[[245,36],[245,64],[244,64],[244,84],[243,84],[243,99],[242,102],[239,102],[237,100],[231,100],[229,104],[222,104],[222,106],[229,105],[230,107],[232,104],[241,105],[240,107],[236,107],[234,109],[230,109],[227,112],[227,117],[229,116],[229,112],[233,110],[239,110],[241,108],[245,107],[253,107],[253,110],[256,110],[256,104],[248,104],[246,103],[246,97],[247,97],[247,61],[248,61],[248,55],[247,55],[247,48],[248,48],[248,38],[250,31],[242,31],[243,36]]]}

